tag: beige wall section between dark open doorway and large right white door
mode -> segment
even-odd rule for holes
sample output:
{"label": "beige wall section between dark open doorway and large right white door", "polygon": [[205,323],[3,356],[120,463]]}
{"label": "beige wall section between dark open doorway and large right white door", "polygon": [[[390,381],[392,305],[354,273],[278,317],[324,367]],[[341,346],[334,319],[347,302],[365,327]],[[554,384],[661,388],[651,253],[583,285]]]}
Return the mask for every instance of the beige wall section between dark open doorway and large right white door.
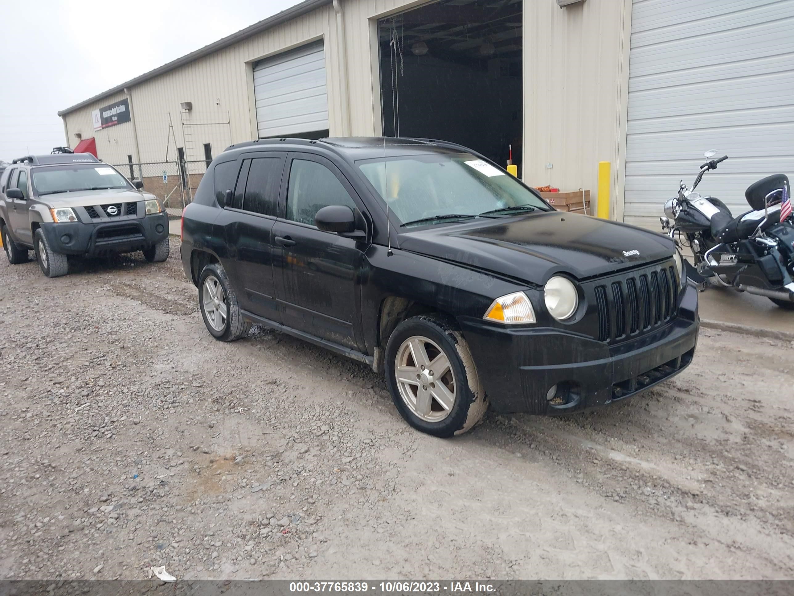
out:
{"label": "beige wall section between dark open doorway and large right white door", "polygon": [[524,181],[586,188],[595,199],[598,162],[611,161],[615,219],[622,216],[630,11],[630,0],[563,9],[553,0],[524,2]]}

